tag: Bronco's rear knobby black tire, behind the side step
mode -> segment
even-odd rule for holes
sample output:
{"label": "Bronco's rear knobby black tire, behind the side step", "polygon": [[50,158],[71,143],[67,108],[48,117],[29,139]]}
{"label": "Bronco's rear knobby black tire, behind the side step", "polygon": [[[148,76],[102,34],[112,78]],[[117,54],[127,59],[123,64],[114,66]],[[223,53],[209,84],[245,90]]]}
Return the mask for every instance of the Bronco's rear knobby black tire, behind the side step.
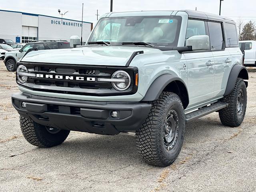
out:
{"label": "Bronco's rear knobby black tire, behind the side step", "polygon": [[[240,100],[242,92],[242,101]],[[241,102],[238,102],[240,100]],[[232,92],[225,96],[222,102],[228,103],[228,107],[219,110],[220,121],[225,126],[237,127],[244,120],[246,105],[247,105],[247,92],[246,85],[242,78],[236,79],[236,84]],[[238,107],[239,103],[242,104],[242,109]],[[238,110],[240,109],[240,110]]]}

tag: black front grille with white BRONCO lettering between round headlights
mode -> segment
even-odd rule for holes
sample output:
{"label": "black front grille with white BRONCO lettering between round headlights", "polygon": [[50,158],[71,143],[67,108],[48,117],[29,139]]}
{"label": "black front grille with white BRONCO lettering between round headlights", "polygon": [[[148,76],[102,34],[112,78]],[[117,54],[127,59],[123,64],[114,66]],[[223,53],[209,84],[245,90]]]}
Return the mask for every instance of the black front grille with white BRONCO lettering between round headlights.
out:
{"label": "black front grille with white BRONCO lettering between round headlights", "polygon": [[[40,75],[37,77],[28,77],[26,83],[20,84],[32,90],[96,96],[134,94],[137,91],[137,86],[134,86],[135,74],[138,72],[136,67],[84,66],[31,62],[18,62],[17,64],[26,66],[30,73]],[[115,90],[110,82],[97,81],[98,78],[111,78],[112,74],[117,70],[124,70],[131,76],[131,85],[124,92]]]}

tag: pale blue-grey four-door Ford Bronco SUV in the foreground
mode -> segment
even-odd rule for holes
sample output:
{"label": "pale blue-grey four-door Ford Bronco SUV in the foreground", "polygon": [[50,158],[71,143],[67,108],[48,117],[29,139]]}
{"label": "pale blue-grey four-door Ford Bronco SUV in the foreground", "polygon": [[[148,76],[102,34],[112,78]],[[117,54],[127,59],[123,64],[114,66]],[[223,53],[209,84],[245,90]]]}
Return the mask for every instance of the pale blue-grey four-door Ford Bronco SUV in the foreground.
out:
{"label": "pale blue-grey four-door Ford Bronco SUV in the foreground", "polygon": [[17,63],[21,92],[12,104],[30,144],[59,145],[70,130],[135,134],[148,164],[168,166],[186,123],[212,112],[224,126],[244,120],[248,72],[229,18],[191,10],[108,13],[85,46],[74,37],[71,44],[29,50]]}

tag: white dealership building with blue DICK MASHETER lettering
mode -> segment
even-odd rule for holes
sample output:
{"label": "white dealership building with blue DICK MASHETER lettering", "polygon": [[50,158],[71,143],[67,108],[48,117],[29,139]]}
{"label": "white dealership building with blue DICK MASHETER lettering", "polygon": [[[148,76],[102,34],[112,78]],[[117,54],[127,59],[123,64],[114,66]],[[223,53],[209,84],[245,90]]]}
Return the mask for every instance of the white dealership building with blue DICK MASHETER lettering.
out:
{"label": "white dealership building with blue DICK MASHETER lettering", "polygon": [[30,40],[70,40],[70,36],[81,36],[86,41],[92,23],[62,19],[52,16],[17,11],[0,10],[0,39],[10,39],[17,43]]}

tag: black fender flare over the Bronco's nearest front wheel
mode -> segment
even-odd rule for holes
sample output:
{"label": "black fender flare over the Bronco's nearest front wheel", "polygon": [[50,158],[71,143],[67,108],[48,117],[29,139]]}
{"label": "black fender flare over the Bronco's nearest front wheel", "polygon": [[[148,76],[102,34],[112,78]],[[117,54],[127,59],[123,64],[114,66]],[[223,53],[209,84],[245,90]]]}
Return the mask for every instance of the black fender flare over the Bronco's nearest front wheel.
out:
{"label": "black fender flare over the Bronco's nearest front wheel", "polygon": [[[162,93],[162,91],[164,90],[164,88],[166,88],[166,86],[173,81],[180,81],[186,87],[185,82],[181,78],[179,78],[177,76],[173,76],[171,74],[163,74],[163,75],[159,76],[158,78],[156,78],[154,80],[154,82],[150,85],[150,87],[148,88],[148,91],[146,92],[146,95],[144,96],[142,101],[145,102],[145,101],[157,100],[159,98],[160,94]],[[187,94],[187,98],[188,98],[188,88],[187,87],[186,87],[186,91],[187,91],[186,94]]]}

